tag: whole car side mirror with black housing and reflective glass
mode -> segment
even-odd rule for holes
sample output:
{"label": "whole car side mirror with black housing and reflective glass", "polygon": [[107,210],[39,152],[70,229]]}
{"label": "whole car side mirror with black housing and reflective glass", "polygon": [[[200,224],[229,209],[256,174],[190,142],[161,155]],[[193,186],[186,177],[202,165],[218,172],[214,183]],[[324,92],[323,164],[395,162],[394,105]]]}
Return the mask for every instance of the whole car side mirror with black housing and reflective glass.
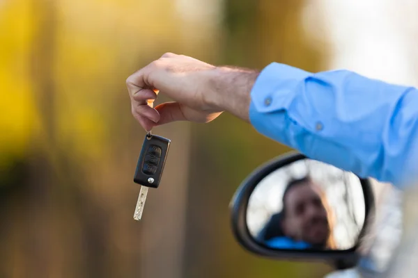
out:
{"label": "whole car side mirror with black housing and reflective glass", "polygon": [[233,233],[245,249],[338,269],[356,265],[373,210],[368,179],[298,153],[258,167],[231,200]]}

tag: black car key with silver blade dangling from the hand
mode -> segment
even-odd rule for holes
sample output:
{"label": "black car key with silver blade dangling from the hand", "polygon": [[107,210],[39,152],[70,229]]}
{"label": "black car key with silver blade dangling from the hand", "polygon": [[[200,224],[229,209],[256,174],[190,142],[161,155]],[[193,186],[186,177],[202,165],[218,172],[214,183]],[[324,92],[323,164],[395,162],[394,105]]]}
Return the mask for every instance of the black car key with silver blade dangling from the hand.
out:
{"label": "black car key with silver blade dangling from the hand", "polygon": [[141,185],[134,220],[141,220],[148,188],[158,188],[171,140],[148,132],[139,154],[134,182]]}

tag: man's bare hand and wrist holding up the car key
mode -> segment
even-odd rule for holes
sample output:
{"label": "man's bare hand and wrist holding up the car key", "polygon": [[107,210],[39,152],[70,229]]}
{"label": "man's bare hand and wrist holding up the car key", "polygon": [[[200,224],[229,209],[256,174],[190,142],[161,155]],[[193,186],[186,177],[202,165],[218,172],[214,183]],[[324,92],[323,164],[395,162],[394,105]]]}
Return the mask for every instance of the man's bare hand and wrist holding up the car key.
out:
{"label": "man's bare hand and wrist holding up the car key", "polygon": [[[249,73],[248,81],[245,76]],[[210,122],[224,110],[247,120],[249,91],[256,76],[254,71],[215,67],[188,56],[168,53],[132,74],[126,83],[132,114],[150,131],[153,126],[180,120]],[[245,99],[240,98],[242,91]],[[156,99],[157,92],[174,101],[155,108],[148,106],[147,101]]]}

